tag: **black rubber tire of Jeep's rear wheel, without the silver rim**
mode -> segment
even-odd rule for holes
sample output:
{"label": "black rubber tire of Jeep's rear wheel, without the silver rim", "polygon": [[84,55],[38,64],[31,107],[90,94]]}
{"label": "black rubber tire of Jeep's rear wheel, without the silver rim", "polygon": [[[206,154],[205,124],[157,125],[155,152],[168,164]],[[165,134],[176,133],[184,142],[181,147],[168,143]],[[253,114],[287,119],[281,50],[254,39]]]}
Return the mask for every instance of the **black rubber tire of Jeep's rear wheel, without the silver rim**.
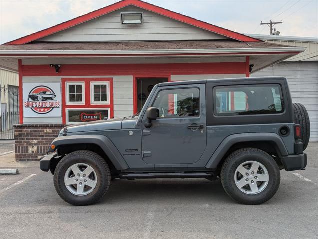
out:
{"label": "black rubber tire of Jeep's rear wheel, without the silver rim", "polygon": [[[269,175],[269,181],[263,191],[257,194],[246,194],[235,184],[236,168],[246,161],[257,161],[263,164]],[[221,183],[225,192],[241,204],[261,204],[271,199],[280,185],[280,170],[275,160],[266,152],[256,148],[242,148],[231,153],[221,168]]]}

